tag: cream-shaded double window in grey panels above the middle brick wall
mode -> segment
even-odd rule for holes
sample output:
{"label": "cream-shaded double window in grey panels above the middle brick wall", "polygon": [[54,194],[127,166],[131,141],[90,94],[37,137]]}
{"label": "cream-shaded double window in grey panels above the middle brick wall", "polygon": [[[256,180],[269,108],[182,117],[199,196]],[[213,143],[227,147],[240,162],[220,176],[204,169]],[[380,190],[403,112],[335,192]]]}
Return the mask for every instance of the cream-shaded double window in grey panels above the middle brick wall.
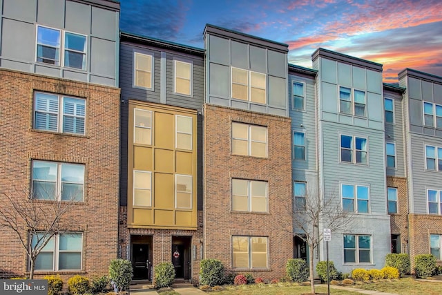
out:
{"label": "cream-shaded double window in grey panels above the middle brick wall", "polygon": [[231,68],[231,97],[266,103],[266,75],[241,68]]}

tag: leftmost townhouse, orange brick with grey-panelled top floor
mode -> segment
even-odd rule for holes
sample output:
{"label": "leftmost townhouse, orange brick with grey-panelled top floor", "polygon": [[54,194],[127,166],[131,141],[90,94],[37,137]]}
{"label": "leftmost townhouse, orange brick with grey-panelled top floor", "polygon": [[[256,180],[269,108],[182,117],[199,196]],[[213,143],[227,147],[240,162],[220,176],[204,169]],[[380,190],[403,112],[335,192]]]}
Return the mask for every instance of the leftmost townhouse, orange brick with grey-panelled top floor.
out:
{"label": "leftmost townhouse, orange brick with grey-panelled top floor", "polygon": [[[1,0],[0,12],[0,191],[47,214],[73,202],[36,278],[104,275],[117,258],[119,3]],[[17,229],[24,245],[39,238]],[[0,277],[29,274],[26,249],[1,232]]]}

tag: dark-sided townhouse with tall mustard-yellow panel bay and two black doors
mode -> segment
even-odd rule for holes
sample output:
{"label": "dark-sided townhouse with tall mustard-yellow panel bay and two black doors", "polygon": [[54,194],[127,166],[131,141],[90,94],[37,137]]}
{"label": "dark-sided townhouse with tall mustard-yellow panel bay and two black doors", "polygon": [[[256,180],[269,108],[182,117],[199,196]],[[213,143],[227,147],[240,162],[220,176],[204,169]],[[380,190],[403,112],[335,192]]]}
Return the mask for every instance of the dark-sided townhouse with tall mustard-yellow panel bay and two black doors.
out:
{"label": "dark-sided townhouse with tall mustard-yellow panel bay and two black doors", "polygon": [[134,279],[172,262],[198,281],[204,50],[126,32],[120,48],[119,256]]}

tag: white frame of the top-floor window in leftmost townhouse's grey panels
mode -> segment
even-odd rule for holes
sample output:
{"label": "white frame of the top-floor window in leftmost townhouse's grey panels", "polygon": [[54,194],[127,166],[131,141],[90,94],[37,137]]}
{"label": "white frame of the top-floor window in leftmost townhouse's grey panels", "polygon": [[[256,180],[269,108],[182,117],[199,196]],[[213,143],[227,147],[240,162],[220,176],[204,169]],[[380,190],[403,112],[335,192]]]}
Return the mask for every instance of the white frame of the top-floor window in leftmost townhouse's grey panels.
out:
{"label": "white frame of the top-floor window in leftmost townhouse's grey panels", "polygon": [[[39,32],[39,28],[46,28],[49,30],[57,30],[59,32],[59,38],[60,38],[60,47],[58,48],[58,64],[50,64],[44,61],[38,61],[39,56],[38,56],[38,46],[39,46],[39,42],[38,42],[38,32]],[[84,37],[85,40],[85,44],[84,44],[84,51],[79,51],[79,50],[73,50],[73,49],[68,49],[66,48],[66,33],[68,34],[72,34],[72,35],[78,35],[81,37]],[[52,47],[52,46],[50,46]],[[83,64],[81,65],[81,68],[75,68],[72,66],[66,66],[65,64],[65,53],[66,52],[74,52],[74,53],[81,53],[82,55],[84,55],[84,67]],[[57,59],[55,59],[57,60]],[[41,25],[37,25],[35,26],[35,62],[39,63],[39,64],[48,64],[48,65],[52,65],[52,66],[63,66],[65,68],[71,68],[71,69],[75,69],[75,70],[81,70],[81,71],[86,71],[88,68],[88,35],[84,35],[84,34],[79,34],[77,32],[70,32],[68,30],[60,30],[59,28],[51,28],[49,26],[41,26]]]}

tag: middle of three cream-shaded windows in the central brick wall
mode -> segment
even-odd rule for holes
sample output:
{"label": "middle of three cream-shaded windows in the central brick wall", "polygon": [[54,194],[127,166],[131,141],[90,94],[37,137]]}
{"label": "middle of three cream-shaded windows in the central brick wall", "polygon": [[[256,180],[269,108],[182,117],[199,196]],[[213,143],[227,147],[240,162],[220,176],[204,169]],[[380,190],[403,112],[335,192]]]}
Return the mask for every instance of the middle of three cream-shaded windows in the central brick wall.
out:
{"label": "middle of three cream-shaded windows in the central brick wall", "polygon": [[267,182],[232,179],[232,210],[268,212]]}

